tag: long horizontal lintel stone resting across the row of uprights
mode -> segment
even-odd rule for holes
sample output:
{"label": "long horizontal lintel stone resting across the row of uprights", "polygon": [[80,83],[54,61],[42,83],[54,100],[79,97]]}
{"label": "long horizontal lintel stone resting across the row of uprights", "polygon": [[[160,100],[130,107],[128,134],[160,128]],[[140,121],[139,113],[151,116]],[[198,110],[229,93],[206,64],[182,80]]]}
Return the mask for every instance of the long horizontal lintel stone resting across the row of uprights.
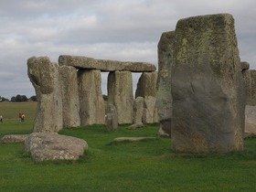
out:
{"label": "long horizontal lintel stone resting across the row of uprights", "polygon": [[155,65],[145,62],[123,62],[117,60],[92,59],[82,56],[59,56],[59,65],[77,69],[99,69],[103,71],[128,70],[133,72],[155,71]]}

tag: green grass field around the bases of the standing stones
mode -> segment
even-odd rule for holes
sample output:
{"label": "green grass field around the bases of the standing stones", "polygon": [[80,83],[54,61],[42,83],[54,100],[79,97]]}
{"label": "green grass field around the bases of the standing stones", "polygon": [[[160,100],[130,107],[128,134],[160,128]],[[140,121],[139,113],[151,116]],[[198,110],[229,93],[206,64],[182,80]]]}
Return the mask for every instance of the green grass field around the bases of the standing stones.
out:
{"label": "green grass field around the bases of the standing stones", "polygon": [[[0,124],[0,136],[32,132],[35,103],[2,104],[0,112],[9,119]],[[31,116],[25,123],[14,120],[21,111]],[[0,191],[256,190],[256,138],[246,139],[241,152],[179,154],[171,150],[169,138],[112,143],[119,136],[156,136],[158,130],[157,124],[138,130],[126,127],[119,126],[111,133],[106,133],[103,125],[60,131],[89,144],[89,150],[76,162],[35,163],[21,154],[23,144],[0,144]]]}

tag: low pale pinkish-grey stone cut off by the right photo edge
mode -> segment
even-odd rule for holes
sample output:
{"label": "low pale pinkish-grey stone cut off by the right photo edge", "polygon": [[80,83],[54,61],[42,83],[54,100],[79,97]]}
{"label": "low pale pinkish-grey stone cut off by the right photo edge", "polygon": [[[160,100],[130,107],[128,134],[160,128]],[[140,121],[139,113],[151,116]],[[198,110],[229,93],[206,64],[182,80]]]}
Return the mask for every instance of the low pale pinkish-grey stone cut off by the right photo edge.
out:
{"label": "low pale pinkish-grey stone cut off by the right photo edge", "polygon": [[256,134],[256,106],[246,105],[245,107],[245,130],[247,135]]}

